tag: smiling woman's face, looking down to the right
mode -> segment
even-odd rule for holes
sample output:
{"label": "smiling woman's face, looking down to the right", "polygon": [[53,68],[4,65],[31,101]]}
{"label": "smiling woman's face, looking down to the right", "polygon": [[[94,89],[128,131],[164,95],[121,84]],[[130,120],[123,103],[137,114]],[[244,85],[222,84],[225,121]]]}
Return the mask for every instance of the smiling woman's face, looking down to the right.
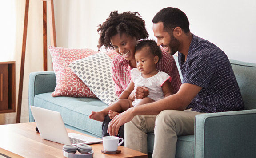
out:
{"label": "smiling woman's face, looking down to the right", "polygon": [[126,33],[123,33],[121,36],[116,34],[110,38],[115,51],[122,55],[125,60],[131,61],[134,59],[135,47],[139,43],[135,37],[128,36]]}

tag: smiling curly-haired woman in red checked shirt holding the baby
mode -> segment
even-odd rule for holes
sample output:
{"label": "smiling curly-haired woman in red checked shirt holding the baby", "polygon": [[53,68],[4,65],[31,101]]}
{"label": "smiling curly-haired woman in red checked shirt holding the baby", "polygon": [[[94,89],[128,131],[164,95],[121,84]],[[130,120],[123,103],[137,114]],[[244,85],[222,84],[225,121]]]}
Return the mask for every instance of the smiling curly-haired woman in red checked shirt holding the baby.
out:
{"label": "smiling curly-haired woman in red checked shirt holding the baby", "polygon": [[[137,12],[118,13],[113,11],[97,30],[100,33],[98,48],[104,46],[106,49],[114,49],[119,55],[112,60],[112,77],[115,82],[116,95],[124,91],[130,82],[130,71],[136,68],[134,57],[136,44],[139,40],[148,38],[145,28],[145,21]],[[162,49],[162,48],[161,48]],[[172,77],[172,93],[176,93],[181,85],[179,71],[175,60],[164,49],[162,49],[162,59],[157,63],[157,69],[166,72]],[[146,87],[138,87],[131,93],[128,99],[142,99],[148,96]],[[109,117],[104,119],[102,124],[102,136],[107,136]],[[124,138],[124,127],[120,128],[119,137]]]}

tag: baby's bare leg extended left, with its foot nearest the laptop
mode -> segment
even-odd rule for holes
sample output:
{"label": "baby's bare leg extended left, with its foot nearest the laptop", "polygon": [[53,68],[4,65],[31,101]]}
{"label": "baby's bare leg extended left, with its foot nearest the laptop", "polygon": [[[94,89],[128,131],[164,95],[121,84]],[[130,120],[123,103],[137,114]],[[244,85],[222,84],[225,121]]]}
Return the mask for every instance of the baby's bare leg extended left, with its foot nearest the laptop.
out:
{"label": "baby's bare leg extended left, with its foot nearest the laptop", "polygon": [[92,111],[91,115],[89,115],[89,118],[94,119],[96,121],[104,121],[105,116],[108,115],[108,112],[110,110],[116,111],[116,112],[123,112],[123,111],[126,111],[131,106],[132,106],[131,100],[118,99],[115,103],[104,108],[102,111],[99,111],[99,112]]}

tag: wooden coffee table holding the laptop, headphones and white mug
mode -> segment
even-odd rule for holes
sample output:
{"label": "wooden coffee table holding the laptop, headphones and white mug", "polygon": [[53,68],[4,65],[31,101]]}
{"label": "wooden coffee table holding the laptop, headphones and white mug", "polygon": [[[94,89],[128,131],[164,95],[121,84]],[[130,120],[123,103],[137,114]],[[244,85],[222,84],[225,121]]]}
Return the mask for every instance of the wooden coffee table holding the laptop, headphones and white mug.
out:
{"label": "wooden coffee table holding the laptop, headphones and white mug", "polygon": [[[0,125],[0,157],[4,155],[7,158],[65,158],[62,151],[63,144],[42,139],[35,127],[35,122]],[[67,131],[83,134],[71,129]],[[102,143],[90,146],[94,151],[93,158],[148,158],[147,154],[124,146],[118,147],[118,150],[121,150],[119,154],[101,153]]]}

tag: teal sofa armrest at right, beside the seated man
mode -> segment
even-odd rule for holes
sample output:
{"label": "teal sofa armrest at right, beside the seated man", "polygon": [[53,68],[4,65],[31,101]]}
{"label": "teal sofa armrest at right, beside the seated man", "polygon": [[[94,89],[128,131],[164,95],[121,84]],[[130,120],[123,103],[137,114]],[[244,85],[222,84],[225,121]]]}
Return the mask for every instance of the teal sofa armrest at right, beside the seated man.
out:
{"label": "teal sofa armrest at right, beside the seated man", "polygon": [[253,158],[256,109],[196,115],[195,158]]}

